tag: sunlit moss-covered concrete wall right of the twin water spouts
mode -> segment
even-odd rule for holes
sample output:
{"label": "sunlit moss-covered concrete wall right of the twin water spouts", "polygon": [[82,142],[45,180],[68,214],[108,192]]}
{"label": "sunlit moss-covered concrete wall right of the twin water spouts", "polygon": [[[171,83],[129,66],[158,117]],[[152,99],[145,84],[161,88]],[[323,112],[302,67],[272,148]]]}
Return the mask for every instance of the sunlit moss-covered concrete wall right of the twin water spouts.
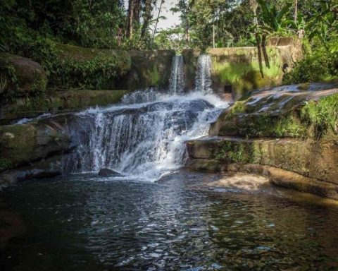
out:
{"label": "sunlit moss-covered concrete wall right of the twin water spouts", "polygon": [[301,59],[301,46],[269,46],[209,49],[213,89],[232,92],[237,100],[245,92],[281,85],[284,73]]}

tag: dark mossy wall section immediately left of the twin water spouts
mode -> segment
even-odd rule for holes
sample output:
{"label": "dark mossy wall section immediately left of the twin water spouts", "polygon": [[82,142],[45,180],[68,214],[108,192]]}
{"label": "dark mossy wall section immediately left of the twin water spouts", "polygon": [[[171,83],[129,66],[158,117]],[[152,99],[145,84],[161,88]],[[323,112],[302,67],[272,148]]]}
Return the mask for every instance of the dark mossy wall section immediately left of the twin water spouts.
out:
{"label": "dark mossy wall section immediately left of the twin water spouts", "polygon": [[168,87],[174,50],[130,51],[130,56],[131,69],[118,81],[117,88],[142,90]]}

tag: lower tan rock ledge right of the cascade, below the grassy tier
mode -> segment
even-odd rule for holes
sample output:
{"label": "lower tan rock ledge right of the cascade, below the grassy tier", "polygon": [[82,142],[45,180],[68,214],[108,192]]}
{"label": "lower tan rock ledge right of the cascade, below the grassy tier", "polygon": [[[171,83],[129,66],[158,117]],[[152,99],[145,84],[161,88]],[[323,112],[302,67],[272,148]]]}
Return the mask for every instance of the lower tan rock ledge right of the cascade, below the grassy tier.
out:
{"label": "lower tan rock ledge right of the cascade, below the grassy tier", "polygon": [[[190,159],[204,161],[204,170],[215,164],[261,164],[302,176],[338,184],[338,145],[293,138],[221,137],[187,143]],[[207,167],[208,166],[208,167]]]}

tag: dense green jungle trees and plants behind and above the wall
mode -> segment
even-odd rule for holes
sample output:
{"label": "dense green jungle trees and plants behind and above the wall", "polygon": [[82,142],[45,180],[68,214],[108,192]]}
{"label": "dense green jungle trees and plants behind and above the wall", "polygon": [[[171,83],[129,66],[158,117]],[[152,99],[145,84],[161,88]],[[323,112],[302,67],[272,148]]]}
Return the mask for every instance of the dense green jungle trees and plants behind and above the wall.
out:
{"label": "dense green jungle trees and plants behind and above the wall", "polygon": [[171,12],[180,21],[161,30],[165,1],[3,0],[0,52],[27,56],[49,70],[55,44],[180,50],[257,46],[269,37],[301,35],[306,57],[284,83],[337,78],[338,0],[177,0]]}

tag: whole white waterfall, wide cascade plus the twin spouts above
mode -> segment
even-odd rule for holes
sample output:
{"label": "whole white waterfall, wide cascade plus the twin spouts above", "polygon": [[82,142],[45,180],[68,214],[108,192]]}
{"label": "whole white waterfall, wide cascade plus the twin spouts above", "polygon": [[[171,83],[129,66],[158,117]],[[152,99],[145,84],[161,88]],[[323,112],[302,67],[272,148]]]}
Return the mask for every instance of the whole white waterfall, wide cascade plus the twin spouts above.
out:
{"label": "whole white waterfall, wide cascade plus the twin spouts above", "polygon": [[200,56],[196,88],[183,93],[183,60],[175,56],[165,94],[139,90],[119,105],[77,114],[77,121],[87,128],[68,157],[68,171],[109,168],[122,174],[118,178],[156,181],[183,167],[185,142],[207,135],[228,106],[211,92],[210,67],[208,56]]}

